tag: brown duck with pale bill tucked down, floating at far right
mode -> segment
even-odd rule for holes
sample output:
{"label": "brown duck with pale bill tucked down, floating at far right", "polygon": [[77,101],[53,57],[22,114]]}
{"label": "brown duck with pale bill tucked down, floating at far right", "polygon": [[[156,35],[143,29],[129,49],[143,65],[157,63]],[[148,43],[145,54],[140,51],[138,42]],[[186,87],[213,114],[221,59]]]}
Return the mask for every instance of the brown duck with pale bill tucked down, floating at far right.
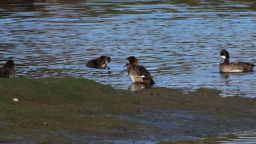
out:
{"label": "brown duck with pale bill tucked down, floating at far right", "polygon": [[229,54],[227,50],[221,50],[220,56],[220,72],[248,72],[255,66],[248,62],[229,62]]}

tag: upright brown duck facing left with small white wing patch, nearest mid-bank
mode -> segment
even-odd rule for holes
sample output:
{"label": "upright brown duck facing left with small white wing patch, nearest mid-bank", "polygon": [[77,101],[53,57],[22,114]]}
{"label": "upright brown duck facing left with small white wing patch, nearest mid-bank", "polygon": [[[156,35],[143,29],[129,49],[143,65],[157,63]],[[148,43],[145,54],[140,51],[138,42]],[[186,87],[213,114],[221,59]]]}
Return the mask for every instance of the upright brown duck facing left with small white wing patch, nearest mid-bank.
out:
{"label": "upright brown duck facing left with small white wing patch, nearest mid-bank", "polygon": [[138,65],[134,56],[127,58],[127,71],[134,84],[154,84],[153,76],[150,75],[144,66]]}

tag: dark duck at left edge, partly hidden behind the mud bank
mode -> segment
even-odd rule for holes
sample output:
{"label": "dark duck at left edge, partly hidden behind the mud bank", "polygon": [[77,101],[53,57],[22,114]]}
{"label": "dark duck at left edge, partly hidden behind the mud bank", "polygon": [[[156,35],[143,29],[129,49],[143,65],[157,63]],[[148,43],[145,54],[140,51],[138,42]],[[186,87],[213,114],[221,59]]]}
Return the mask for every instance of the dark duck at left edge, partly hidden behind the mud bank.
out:
{"label": "dark duck at left edge, partly hidden behind the mud bank", "polygon": [[8,60],[2,68],[0,68],[0,77],[2,78],[15,78],[16,70],[14,69],[13,60]]}

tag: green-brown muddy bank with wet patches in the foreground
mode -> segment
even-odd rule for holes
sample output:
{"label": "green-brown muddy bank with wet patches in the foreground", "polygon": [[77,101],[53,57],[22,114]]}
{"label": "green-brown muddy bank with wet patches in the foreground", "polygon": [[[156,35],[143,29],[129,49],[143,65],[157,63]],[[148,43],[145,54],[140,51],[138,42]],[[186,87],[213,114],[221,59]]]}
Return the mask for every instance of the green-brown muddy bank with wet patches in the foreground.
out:
{"label": "green-brown muddy bank with wet patches in the foreground", "polygon": [[219,90],[131,92],[78,78],[1,81],[0,143],[154,144],[256,130],[256,98],[223,98]]}

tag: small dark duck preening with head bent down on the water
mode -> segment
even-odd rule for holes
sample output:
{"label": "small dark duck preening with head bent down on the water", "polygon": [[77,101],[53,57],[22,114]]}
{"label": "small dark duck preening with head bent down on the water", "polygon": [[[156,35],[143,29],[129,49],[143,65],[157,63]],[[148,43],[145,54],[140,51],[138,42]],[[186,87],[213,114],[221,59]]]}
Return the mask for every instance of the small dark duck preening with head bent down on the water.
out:
{"label": "small dark duck preening with head bent down on the water", "polygon": [[87,62],[86,66],[90,68],[106,68],[110,60],[111,58],[108,56],[100,56]]}

